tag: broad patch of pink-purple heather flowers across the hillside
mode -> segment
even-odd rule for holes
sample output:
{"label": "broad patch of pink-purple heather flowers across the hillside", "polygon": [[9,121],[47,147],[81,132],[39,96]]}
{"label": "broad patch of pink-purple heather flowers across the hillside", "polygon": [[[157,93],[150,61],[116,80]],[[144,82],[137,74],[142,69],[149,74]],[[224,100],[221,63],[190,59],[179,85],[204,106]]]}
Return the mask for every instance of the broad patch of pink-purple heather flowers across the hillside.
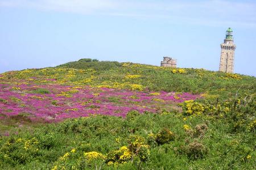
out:
{"label": "broad patch of pink-purple heather flowers across the hillside", "polygon": [[[54,81],[51,79],[51,81]],[[38,92],[39,90],[46,91]],[[137,92],[112,88],[61,86],[59,84],[0,84],[0,118],[26,115],[31,120],[60,121],[90,114],[122,116],[131,110],[156,112],[159,108],[199,95],[175,92]]]}

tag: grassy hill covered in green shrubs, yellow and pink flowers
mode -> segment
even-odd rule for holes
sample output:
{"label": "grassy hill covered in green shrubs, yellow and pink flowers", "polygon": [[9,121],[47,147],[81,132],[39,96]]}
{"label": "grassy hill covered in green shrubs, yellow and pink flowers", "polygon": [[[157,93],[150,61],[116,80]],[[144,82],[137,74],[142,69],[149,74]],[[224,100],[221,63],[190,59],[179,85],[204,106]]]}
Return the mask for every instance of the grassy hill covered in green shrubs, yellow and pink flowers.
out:
{"label": "grassy hill covered in green shrubs, yellow and pink flowers", "polygon": [[255,169],[256,78],[80,59],[0,74],[0,168]]}

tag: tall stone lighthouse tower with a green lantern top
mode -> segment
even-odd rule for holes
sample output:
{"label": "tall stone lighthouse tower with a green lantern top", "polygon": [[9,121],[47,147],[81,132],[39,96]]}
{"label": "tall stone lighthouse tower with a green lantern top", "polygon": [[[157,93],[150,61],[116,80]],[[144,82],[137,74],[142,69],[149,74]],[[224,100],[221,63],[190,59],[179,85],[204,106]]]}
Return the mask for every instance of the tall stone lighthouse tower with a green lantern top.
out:
{"label": "tall stone lighthouse tower with a green lantern top", "polygon": [[234,73],[234,50],[236,45],[233,41],[233,31],[229,28],[226,31],[226,39],[221,44],[220,69],[225,73]]}

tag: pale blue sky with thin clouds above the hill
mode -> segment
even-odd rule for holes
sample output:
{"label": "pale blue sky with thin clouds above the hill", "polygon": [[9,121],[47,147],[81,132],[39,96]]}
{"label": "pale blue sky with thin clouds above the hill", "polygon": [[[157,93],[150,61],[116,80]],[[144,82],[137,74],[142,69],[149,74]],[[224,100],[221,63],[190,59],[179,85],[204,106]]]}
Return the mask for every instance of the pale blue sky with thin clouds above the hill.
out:
{"label": "pale blue sky with thin clouds above the hill", "polygon": [[218,70],[232,27],[236,73],[256,76],[256,1],[0,0],[0,73],[80,58]]}

